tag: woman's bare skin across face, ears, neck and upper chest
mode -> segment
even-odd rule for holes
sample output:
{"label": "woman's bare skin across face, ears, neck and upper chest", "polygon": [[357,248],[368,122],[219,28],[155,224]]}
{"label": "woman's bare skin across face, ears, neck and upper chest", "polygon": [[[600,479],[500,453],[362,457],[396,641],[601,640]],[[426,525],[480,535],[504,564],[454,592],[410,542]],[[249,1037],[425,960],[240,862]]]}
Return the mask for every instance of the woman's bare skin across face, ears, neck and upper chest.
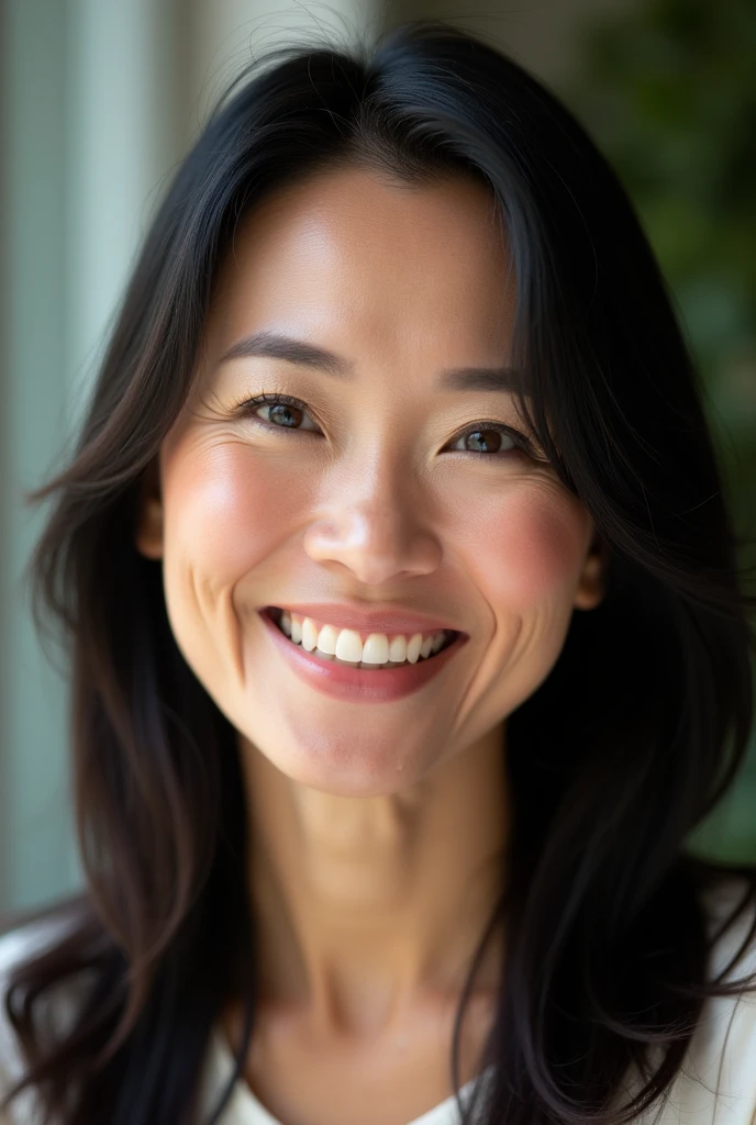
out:
{"label": "woman's bare skin across face, ears, neck and upper chest", "polygon": [[[513,312],[482,186],[356,168],[288,188],[237,228],[146,478],[137,548],[163,560],[177,642],[238,731],[261,982],[246,1078],[287,1125],[398,1125],[451,1092],[453,1015],[506,878],[506,717],[603,596],[593,521],[554,469],[505,436],[483,454],[459,440],[519,429],[513,397],[435,386],[506,362]],[[340,353],[353,379],[219,363],[263,328]],[[297,432],[233,415],[262,392],[306,405]],[[256,610],[343,598],[435,612],[470,639],[404,700],[339,702],[295,676]],[[462,1081],[505,947],[496,934],[476,978]],[[223,1024],[235,1044],[233,1002]]]}

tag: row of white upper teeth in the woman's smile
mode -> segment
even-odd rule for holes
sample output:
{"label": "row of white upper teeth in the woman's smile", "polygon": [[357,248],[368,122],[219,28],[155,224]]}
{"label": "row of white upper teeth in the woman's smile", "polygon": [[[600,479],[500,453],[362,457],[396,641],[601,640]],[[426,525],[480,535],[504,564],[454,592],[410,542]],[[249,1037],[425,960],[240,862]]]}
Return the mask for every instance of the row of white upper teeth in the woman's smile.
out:
{"label": "row of white upper teeth in the woman's smile", "polygon": [[312,652],[318,651],[335,656],[340,660],[362,664],[402,664],[408,660],[415,664],[418,657],[426,659],[431,652],[438,652],[443,645],[447,632],[444,629],[428,633],[413,633],[407,637],[402,633],[369,633],[364,642],[354,629],[336,629],[335,626],[321,624],[312,618],[303,618],[298,613],[284,610],[279,624],[287,637],[295,644]]}

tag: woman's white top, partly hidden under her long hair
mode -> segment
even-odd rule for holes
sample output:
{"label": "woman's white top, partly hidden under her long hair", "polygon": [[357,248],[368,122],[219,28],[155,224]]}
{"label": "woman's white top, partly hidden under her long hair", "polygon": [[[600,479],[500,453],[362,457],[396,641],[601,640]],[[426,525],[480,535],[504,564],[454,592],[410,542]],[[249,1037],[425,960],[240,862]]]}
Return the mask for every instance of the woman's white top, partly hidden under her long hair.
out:
{"label": "woman's white top, partly hidden under her long hair", "polygon": [[[713,927],[738,897],[740,880],[723,885],[710,901],[710,927]],[[730,927],[714,947],[710,964],[710,976],[717,975],[729,963],[750,922],[753,910],[747,911]],[[60,924],[58,924],[60,926]],[[6,979],[9,969],[18,960],[28,956],[35,948],[46,946],[58,929],[50,922],[30,922],[0,937],[0,1094],[4,1094],[12,1081],[22,1073],[16,1040],[4,1018]],[[756,940],[747,947],[740,960],[730,970],[728,980],[756,972]],[[70,1012],[72,1008],[68,1008]],[[53,1014],[57,1026],[64,1026],[66,1010]],[[58,1023],[62,1020],[63,1023]],[[210,1036],[202,1076],[202,1106],[210,1112],[217,1104],[219,1091],[233,1069],[233,1058],[228,1044],[216,1026]],[[485,1081],[488,1071],[479,1076]],[[632,1076],[628,1076],[629,1088],[634,1092]],[[472,1092],[476,1080],[460,1090],[462,1101]],[[627,1098],[618,1097],[616,1104]],[[6,1116],[0,1115],[0,1125],[37,1125],[39,1117],[35,1110],[33,1090],[25,1090],[11,1102]],[[651,1122],[656,1107],[638,1118]],[[285,1125],[270,1114],[252,1094],[243,1079],[237,1079],[234,1092],[226,1104],[222,1125]],[[407,1125],[459,1125],[459,1114],[453,1094],[428,1113]],[[739,993],[734,997],[716,997],[705,1001],[699,1026],[688,1046],[682,1071],[677,1074],[668,1094],[657,1125],[756,1125],[756,992]]]}

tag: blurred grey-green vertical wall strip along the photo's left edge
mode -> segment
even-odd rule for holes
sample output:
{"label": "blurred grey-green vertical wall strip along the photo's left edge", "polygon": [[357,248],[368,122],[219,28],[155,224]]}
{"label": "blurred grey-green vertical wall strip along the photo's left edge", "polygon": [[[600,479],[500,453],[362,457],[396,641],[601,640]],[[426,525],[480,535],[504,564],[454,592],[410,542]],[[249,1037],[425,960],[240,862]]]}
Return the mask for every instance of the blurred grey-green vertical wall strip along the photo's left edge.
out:
{"label": "blurred grey-green vertical wall strip along the photo's left edge", "polygon": [[65,404],[65,34],[58,0],[3,10],[0,371],[0,908],[74,878],[61,677],[33,636],[21,585],[43,513],[21,504]]}

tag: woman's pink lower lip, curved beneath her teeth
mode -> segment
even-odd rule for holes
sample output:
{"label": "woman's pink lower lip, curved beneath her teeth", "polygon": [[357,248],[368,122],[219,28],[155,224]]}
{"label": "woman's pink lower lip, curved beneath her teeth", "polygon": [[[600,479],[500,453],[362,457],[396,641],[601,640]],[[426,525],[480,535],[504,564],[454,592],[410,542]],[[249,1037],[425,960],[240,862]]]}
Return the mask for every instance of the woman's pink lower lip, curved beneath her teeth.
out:
{"label": "woman's pink lower lip, curved beneath her teeth", "polygon": [[324,695],[352,703],[388,703],[420,691],[446,668],[468,639],[465,633],[458,633],[451,645],[430,659],[371,672],[369,668],[350,668],[346,664],[323,660],[305,651],[281,632],[268,610],[260,610],[259,613],[273,642],[302,680]]}

